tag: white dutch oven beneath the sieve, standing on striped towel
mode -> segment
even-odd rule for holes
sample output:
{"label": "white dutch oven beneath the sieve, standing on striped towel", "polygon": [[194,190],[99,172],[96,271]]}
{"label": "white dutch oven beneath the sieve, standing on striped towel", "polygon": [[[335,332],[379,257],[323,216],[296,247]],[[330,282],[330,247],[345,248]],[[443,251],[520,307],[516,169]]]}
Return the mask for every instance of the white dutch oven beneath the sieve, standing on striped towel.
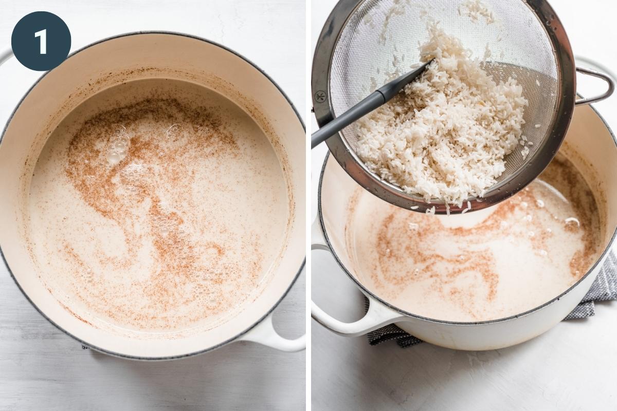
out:
{"label": "white dutch oven beneath the sieve, standing on striped towel", "polygon": [[[453,349],[486,350],[512,346],[538,336],[563,320],[582,300],[595,280],[615,240],[617,228],[617,145],[605,121],[590,106],[579,106],[565,139],[594,171],[598,187],[605,194],[600,205],[604,250],[589,272],[551,301],[528,312],[484,322],[449,322],[406,312],[365,288],[351,272],[344,236],[349,198],[357,183],[328,156],[321,171],[318,217],[312,227],[312,249],[328,250],[370,301],[366,315],[352,323],[334,319],[312,303],[312,317],[329,330],[346,336],[362,335],[387,324],[396,324],[421,340]],[[589,182],[589,181],[588,181]],[[602,210],[604,209],[604,210]]]}

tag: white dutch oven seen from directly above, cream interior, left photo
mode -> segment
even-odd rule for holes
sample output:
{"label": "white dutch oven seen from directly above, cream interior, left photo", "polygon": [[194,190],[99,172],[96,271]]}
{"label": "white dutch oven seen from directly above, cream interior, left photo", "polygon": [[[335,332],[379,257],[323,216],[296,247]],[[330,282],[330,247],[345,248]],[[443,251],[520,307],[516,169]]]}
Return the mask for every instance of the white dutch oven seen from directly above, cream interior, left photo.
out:
{"label": "white dutch oven seen from directly above, cream interior, left photo", "polygon": [[[0,54],[0,63],[10,57]],[[284,153],[292,218],[278,268],[265,290],[236,317],[183,338],[137,339],[86,324],[46,290],[23,240],[23,198],[45,140],[73,108],[123,81],[170,78],[201,84],[239,105],[275,138]],[[275,137],[273,137],[275,136]],[[305,259],[305,131],[283,91],[263,71],[223,46],[178,33],[131,33],[91,44],[43,75],[27,92],[0,140],[0,246],[2,258],[26,298],[60,330],[81,343],[120,357],[175,359],[231,341],[255,341],[300,351],[304,336],[286,340],[272,327],[271,313],[296,281]],[[241,201],[242,199],[236,199]],[[231,201],[231,199],[230,199]]]}

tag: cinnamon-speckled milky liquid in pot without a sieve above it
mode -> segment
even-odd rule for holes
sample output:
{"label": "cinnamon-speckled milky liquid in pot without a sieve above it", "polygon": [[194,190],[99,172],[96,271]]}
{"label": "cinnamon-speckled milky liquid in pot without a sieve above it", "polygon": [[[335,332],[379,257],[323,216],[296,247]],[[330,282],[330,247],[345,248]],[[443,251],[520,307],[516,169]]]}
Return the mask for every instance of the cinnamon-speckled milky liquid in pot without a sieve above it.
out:
{"label": "cinnamon-speckled milky liquid in pot without a sieve above it", "polygon": [[289,218],[270,141],[230,100],[147,79],[86,100],[44,146],[28,198],[39,276],[78,318],[210,328],[270,279]]}

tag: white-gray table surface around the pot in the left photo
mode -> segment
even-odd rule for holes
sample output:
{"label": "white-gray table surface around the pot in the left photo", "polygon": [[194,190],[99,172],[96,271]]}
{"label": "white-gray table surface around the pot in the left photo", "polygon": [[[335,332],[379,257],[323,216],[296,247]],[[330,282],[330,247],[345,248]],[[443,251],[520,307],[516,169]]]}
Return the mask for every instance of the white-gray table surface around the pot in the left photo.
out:
{"label": "white-gray table surface around the pot in the left photo", "polygon": [[[2,1],[0,49],[24,15],[64,19],[72,50],[139,30],[212,39],[265,70],[305,114],[305,2],[231,0]],[[41,73],[0,67],[0,124]],[[0,228],[1,229],[1,228]],[[288,337],[305,328],[305,275],[275,311]],[[0,267],[0,410],[304,410],[305,352],[233,343],[172,362],[136,362],[82,350],[41,317]]]}

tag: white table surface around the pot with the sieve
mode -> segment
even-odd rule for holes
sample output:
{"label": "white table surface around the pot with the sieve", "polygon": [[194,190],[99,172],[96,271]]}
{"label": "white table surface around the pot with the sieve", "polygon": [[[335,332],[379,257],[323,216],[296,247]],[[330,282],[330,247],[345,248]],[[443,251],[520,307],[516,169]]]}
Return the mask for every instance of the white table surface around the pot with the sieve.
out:
{"label": "white table surface around the pot with the sieve", "polygon": [[[504,0],[505,1],[505,0]],[[336,1],[313,0],[314,50]],[[575,54],[617,70],[615,2],[553,0]],[[578,5],[578,6],[575,6]],[[580,76],[579,76],[580,78]],[[602,89],[580,78],[579,92]],[[617,128],[617,96],[596,105]],[[314,118],[312,126],[316,127]],[[312,215],[326,147],[312,153]],[[334,292],[333,290],[336,290]],[[360,292],[325,251],[312,254],[312,296],[338,319],[362,317]],[[335,335],[312,322],[312,409],[322,410],[615,410],[617,303],[596,304],[595,317],[558,324],[518,346],[486,352],[430,344],[401,349]]]}

